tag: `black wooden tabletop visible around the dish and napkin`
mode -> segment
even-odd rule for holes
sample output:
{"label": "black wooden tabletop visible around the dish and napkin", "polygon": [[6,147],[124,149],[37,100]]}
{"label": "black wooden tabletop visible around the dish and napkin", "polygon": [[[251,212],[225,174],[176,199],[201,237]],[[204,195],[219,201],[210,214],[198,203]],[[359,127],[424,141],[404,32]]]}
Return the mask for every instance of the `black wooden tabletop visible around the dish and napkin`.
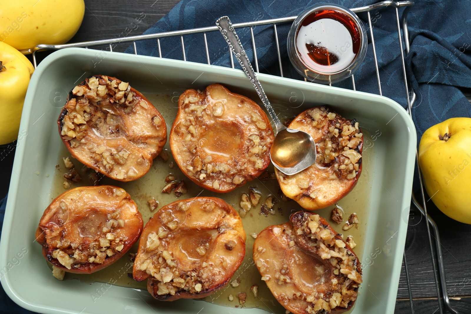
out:
{"label": "black wooden tabletop visible around the dish and napkin", "polygon": [[[105,1],[85,0],[83,23],[70,42],[119,37],[136,17],[144,13],[145,18],[142,18],[138,28],[132,30],[128,36],[141,34],[178,2],[179,0],[116,0],[113,5],[109,5]],[[114,51],[122,52],[127,47],[126,43],[119,44]],[[38,60],[47,54],[40,53]],[[0,147],[0,197],[8,193],[14,154],[13,146]],[[414,206],[411,205],[411,208],[414,209]],[[428,208],[430,216],[439,226],[448,293],[454,298],[451,305],[459,313],[471,313],[471,253],[468,250],[471,246],[471,225],[461,224],[446,217],[431,201]],[[425,219],[421,218],[418,210],[414,209],[413,213],[407,230],[406,258],[414,311],[418,314],[439,313]],[[411,313],[404,263],[394,313]],[[447,311],[444,310],[444,313]]]}

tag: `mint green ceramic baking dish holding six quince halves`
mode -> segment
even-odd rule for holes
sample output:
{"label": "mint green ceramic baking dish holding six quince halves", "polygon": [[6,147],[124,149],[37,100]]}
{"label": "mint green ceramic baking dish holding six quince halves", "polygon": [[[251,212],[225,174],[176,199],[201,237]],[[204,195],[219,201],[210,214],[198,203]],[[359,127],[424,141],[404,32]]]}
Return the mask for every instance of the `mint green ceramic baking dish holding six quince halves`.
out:
{"label": "mint green ceramic baking dish holding six quince halves", "polygon": [[[34,234],[44,209],[64,192],[63,188],[57,188],[62,174],[55,166],[61,154],[67,151],[59,138],[56,121],[66,93],[93,74],[129,81],[153,102],[168,126],[172,123],[176,96],[188,88],[204,89],[218,82],[231,91],[259,100],[244,72],[235,69],[83,48],[59,50],[44,59],[32,76],[24,102],[22,136],[16,148],[1,236],[1,283],[9,297],[20,306],[40,313],[267,313],[257,308],[235,309],[234,305],[227,308],[200,300],[159,302],[145,289],[117,286],[103,280],[60,282],[51,275]],[[416,134],[413,122],[400,105],[386,97],[265,74],[260,74],[259,78],[282,116],[295,116],[309,107],[326,104],[359,122],[365,139],[363,172],[357,187],[339,202],[346,212],[360,213],[358,229],[350,229],[355,233],[358,243],[355,251],[364,267],[363,283],[352,313],[393,313],[414,173]],[[152,180],[164,166],[163,161],[163,166],[158,162],[161,161],[154,161],[158,165],[154,167],[155,172],[128,185],[133,198],[143,193],[139,185],[154,189]],[[190,187],[187,197],[198,192]],[[225,200],[237,206],[235,199]],[[149,211],[142,206],[139,210]],[[318,213],[330,217],[329,209]],[[287,219],[286,215],[284,217]],[[254,213],[252,219],[260,221],[257,223],[260,230],[269,224],[262,215]],[[244,220],[244,226],[246,222],[249,224]],[[253,239],[248,240],[247,246],[251,243]],[[266,289],[260,286],[262,288]],[[259,299],[254,302],[267,302],[267,299]],[[273,303],[260,307],[284,313]]]}

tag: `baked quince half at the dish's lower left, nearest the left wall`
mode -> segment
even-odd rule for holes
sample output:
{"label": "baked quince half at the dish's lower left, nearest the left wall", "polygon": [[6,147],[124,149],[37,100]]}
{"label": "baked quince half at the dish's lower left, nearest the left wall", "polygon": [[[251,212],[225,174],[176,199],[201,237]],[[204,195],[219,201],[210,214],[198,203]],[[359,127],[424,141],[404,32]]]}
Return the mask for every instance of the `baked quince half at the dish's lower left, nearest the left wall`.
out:
{"label": "baked quince half at the dish's lower left, nearest the left wall", "polygon": [[121,258],[138,241],[142,226],[136,203],[122,188],[76,187],[44,211],[36,241],[54,266],[91,274]]}

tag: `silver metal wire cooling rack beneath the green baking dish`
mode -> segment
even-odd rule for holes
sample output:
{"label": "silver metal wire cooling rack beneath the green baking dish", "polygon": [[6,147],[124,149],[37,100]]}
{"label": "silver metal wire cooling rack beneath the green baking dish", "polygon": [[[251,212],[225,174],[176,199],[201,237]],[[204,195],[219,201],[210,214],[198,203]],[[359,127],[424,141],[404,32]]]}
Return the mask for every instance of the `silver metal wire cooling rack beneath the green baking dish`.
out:
{"label": "silver metal wire cooling rack beneath the green baking dish", "polygon": [[[382,1],[378,2],[369,6],[365,7],[359,7],[359,8],[351,8],[351,10],[355,13],[359,12],[366,12],[367,17],[368,17],[368,26],[369,26],[369,31],[370,31],[370,36],[371,36],[371,44],[373,48],[373,55],[374,55],[374,66],[376,69],[376,79],[378,81],[378,93],[379,95],[382,95],[381,91],[381,78],[380,78],[380,72],[378,70],[378,59],[376,56],[376,48],[374,44],[374,33],[373,33],[373,26],[372,26],[372,18],[370,12],[374,10],[378,10],[380,8],[387,8],[388,9],[394,9],[396,11],[396,24],[397,24],[397,29],[398,29],[398,52],[400,53],[401,56],[401,61],[402,61],[402,72],[403,72],[403,77],[404,77],[404,87],[406,89],[406,99],[407,99],[407,112],[411,114],[412,116],[412,106],[415,103],[416,100],[416,95],[414,93],[414,90],[409,87],[409,84],[407,82],[407,76],[406,76],[406,64],[405,64],[405,53],[407,54],[409,52],[409,32],[407,29],[407,13],[409,12],[410,8],[414,5],[413,1]],[[399,17],[399,7],[406,7],[406,9],[403,11],[402,16]],[[278,33],[276,31],[276,24],[281,24],[281,23],[286,23],[286,22],[292,22],[296,16],[289,16],[289,17],[282,17],[282,18],[275,18],[275,19],[268,19],[268,20],[260,20],[256,22],[247,22],[247,23],[237,23],[233,24],[234,28],[250,28],[250,33],[252,36],[252,48],[253,48],[253,55],[254,55],[254,64],[255,64],[255,70],[256,72],[259,72],[259,64],[258,64],[258,58],[257,58],[257,50],[255,48],[255,37],[253,35],[253,27],[258,26],[258,25],[273,25],[273,31],[274,31],[274,40],[276,42],[276,51],[278,55],[278,65],[280,69],[280,76],[283,77],[283,67],[282,67],[282,61],[281,61],[281,55],[280,55],[280,46],[279,46],[279,39],[278,39]],[[402,38],[401,35],[401,30],[402,33],[404,34],[404,39]],[[206,51],[206,62],[207,64],[211,64],[210,60],[210,55],[209,55],[209,50],[208,50],[208,42],[206,39],[206,33],[207,32],[219,32],[219,29],[217,26],[208,26],[208,27],[201,27],[201,28],[194,28],[194,29],[188,29],[188,30],[183,30],[183,31],[173,31],[173,32],[161,32],[161,33],[155,33],[155,34],[146,34],[146,35],[138,35],[138,36],[129,36],[129,37],[124,37],[121,39],[107,39],[107,40],[94,40],[94,41],[84,41],[84,42],[77,42],[77,43],[72,43],[72,44],[63,44],[63,45],[38,45],[34,48],[28,49],[23,51],[25,54],[32,53],[32,59],[33,59],[33,65],[34,68],[37,66],[36,62],[36,53],[43,51],[43,50],[58,50],[58,49],[63,49],[63,48],[70,48],[70,47],[82,47],[82,48],[91,48],[91,47],[96,47],[100,45],[108,45],[109,51],[113,51],[112,44],[117,44],[117,43],[122,43],[122,42],[131,42],[134,47],[134,54],[138,54],[137,47],[136,47],[136,41],[138,40],[149,40],[149,39],[156,39],[157,40],[157,47],[158,47],[158,52],[159,52],[159,57],[162,57],[162,51],[161,51],[161,46],[160,46],[160,39],[166,38],[166,37],[174,37],[174,36],[179,36],[180,37],[180,43],[182,47],[182,60],[186,61],[187,57],[185,55],[185,41],[184,41],[184,36],[188,34],[195,34],[195,33],[202,33],[203,38],[204,38],[204,47]],[[404,40],[404,42],[403,42]],[[403,46],[404,43],[404,46]],[[108,49],[108,48],[107,48]],[[231,67],[234,68],[234,58],[232,56],[232,50],[230,50],[230,61],[231,61]],[[351,82],[352,82],[352,89],[356,90],[355,88],[355,79],[354,76],[351,76]],[[416,152],[416,157],[417,157],[417,152]],[[416,166],[419,169],[419,164],[418,160],[416,158]],[[440,245],[440,237],[439,237],[439,231],[437,228],[437,225],[433,221],[431,217],[428,216],[427,213],[427,207],[425,204],[425,197],[424,197],[424,191],[423,191],[423,184],[422,184],[422,174],[419,169],[419,180],[421,183],[421,189],[420,189],[420,196],[422,197],[422,202],[419,203],[417,200],[416,196],[414,193],[412,194],[412,203],[414,206],[420,210],[423,216],[427,217],[428,223],[427,225],[427,235],[429,239],[429,245],[430,245],[430,255],[431,255],[431,261],[432,261],[432,268],[433,268],[433,276],[435,279],[435,285],[437,289],[437,297],[438,297],[438,303],[439,303],[439,313],[443,314],[444,313],[444,308],[442,306],[442,302],[440,299],[440,295],[443,298],[443,302],[448,309],[450,313],[457,314],[458,312],[455,311],[451,305],[450,305],[450,299],[448,297],[448,291],[447,291],[447,281],[445,277],[445,268],[443,265],[443,257],[442,257],[442,252],[441,252],[441,245]],[[430,231],[432,230],[432,232]],[[432,237],[434,241],[432,241]],[[406,262],[406,252],[404,252],[404,266],[405,266],[405,271],[406,271],[406,281],[407,281],[407,288],[409,292],[409,300],[410,300],[410,306],[411,306],[411,313],[414,314],[414,304],[412,300],[412,291],[411,291],[411,286],[410,286],[410,281],[409,281],[409,271],[407,267],[407,262]]]}

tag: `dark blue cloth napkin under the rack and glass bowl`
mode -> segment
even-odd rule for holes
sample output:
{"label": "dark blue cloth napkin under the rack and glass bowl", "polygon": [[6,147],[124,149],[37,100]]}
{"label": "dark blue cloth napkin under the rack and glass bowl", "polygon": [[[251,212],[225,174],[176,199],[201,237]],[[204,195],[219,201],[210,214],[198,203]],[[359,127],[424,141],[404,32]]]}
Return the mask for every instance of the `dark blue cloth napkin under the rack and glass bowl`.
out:
{"label": "dark blue cloth napkin under the rack and glass bowl", "polygon": [[[325,1],[283,0],[182,0],[144,34],[184,30],[214,25],[217,18],[227,15],[232,23],[252,22],[284,16],[298,15],[305,8]],[[377,1],[329,0],[347,8],[361,7]],[[399,8],[402,14],[404,8]],[[413,108],[418,142],[423,131],[452,117],[470,117],[471,107],[456,87],[471,87],[471,1],[426,0],[417,1],[408,14],[411,50],[406,58],[407,74],[417,94]],[[370,32],[365,13],[358,14]],[[371,13],[375,47],[378,56],[383,96],[407,106],[406,89],[398,45],[398,31],[394,8]],[[277,25],[280,52],[284,58],[284,76],[302,79],[289,64],[286,37],[291,23]],[[273,27],[253,28],[260,72],[279,74]],[[253,62],[252,40],[249,29],[237,30],[247,55]],[[184,36],[188,61],[206,63],[202,34]],[[210,61],[214,65],[230,66],[227,44],[219,32],[207,34]],[[368,41],[371,42],[370,38]],[[182,59],[180,38],[160,40],[162,56]],[[159,56],[156,40],[137,43],[138,54]],[[126,50],[133,53],[132,47]],[[235,61],[235,63],[237,63]],[[236,64],[236,67],[239,67]],[[239,67],[240,68],[240,67]],[[355,73],[357,90],[378,94],[373,48],[362,67]],[[346,80],[335,86],[351,89]],[[418,143],[417,142],[417,143]]]}

